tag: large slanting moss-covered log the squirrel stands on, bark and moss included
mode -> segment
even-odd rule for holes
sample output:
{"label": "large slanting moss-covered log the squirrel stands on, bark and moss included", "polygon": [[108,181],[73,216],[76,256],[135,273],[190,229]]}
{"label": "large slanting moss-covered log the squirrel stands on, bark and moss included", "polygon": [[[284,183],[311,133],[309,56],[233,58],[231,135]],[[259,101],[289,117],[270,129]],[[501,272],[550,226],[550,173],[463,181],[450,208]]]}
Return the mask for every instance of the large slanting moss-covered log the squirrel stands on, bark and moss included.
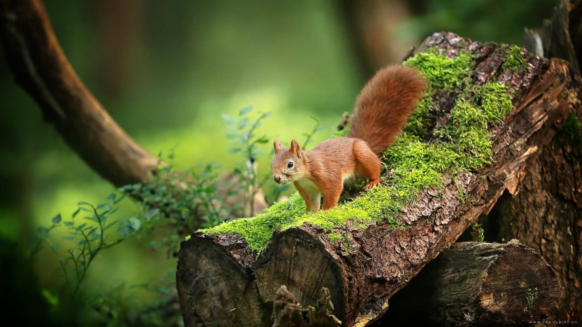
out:
{"label": "large slanting moss-covered log the squirrel stands on, bark and moss included", "polygon": [[317,214],[293,196],[192,234],[176,273],[186,326],[269,326],[281,285],[303,307],[327,287],[343,325],[371,324],[514,189],[566,120],[570,67],[559,59],[452,33],[432,35],[419,51],[405,64],[429,88],[382,158],[381,186]]}

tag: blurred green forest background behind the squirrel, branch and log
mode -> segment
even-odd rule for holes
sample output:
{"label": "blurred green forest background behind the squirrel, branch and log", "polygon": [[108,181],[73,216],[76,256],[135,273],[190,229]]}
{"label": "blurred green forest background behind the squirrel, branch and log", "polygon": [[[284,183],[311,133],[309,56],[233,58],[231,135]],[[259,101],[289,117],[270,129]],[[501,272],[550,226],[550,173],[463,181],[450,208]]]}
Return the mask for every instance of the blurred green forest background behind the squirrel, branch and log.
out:
{"label": "blurred green forest background behind the squirrel, branch and log", "polygon": [[[288,143],[313,127],[331,136],[365,81],[398,63],[435,31],[522,45],[556,0],[45,1],[55,33],[81,80],[129,134],[157,154],[176,148],[179,168],[232,168],[221,113],[271,111],[260,133]],[[70,215],[80,201],[113,190],[82,162],[0,56],[0,237],[29,247],[38,225]],[[313,145],[313,143],[311,144]],[[265,145],[269,150],[270,144]],[[268,155],[258,160],[267,173]],[[123,202],[115,215],[137,206]],[[84,292],[156,282],[176,260],[132,240],[94,262]],[[51,251],[36,262],[40,285],[56,292]],[[111,273],[104,273],[111,272]],[[129,291],[128,291],[129,292]],[[137,292],[137,291],[132,291]],[[147,292],[145,292],[147,293]],[[150,300],[145,293],[140,300]]]}

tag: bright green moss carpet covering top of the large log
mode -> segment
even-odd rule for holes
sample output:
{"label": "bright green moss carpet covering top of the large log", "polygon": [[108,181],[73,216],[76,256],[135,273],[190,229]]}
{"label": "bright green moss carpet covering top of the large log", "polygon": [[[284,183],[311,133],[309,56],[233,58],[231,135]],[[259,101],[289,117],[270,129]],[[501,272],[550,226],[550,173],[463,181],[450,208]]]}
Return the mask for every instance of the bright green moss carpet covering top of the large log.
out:
{"label": "bright green moss carpet covering top of the large log", "polygon": [[[342,231],[349,220],[360,229],[375,223],[404,228],[399,220],[400,210],[415,201],[420,191],[438,189],[460,172],[474,171],[487,164],[491,157],[488,126],[502,120],[512,108],[508,87],[496,81],[483,86],[471,84],[474,55],[469,52],[462,51],[449,59],[437,49],[430,49],[408,59],[404,65],[416,67],[429,83],[406,129],[384,152],[383,161],[391,171],[386,176],[387,183],[320,212],[306,212],[303,200],[294,194],[291,208],[287,208],[288,202],[279,202],[254,218],[237,219],[201,231],[239,233],[253,250],[261,251],[279,226],[288,229],[309,222],[324,228],[332,241],[345,240]],[[435,102],[435,95],[443,91],[458,94],[448,114],[439,111]],[[448,115],[446,124],[439,126],[430,141],[426,141],[428,126],[434,124],[438,115]]]}

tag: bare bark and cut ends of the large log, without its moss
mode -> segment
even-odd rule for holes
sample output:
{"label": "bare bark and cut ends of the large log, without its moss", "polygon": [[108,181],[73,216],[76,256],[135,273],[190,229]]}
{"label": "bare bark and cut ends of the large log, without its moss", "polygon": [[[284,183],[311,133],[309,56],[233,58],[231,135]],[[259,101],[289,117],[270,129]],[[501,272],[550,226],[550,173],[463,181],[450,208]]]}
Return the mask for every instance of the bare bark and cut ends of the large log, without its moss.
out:
{"label": "bare bark and cut ends of the large log, without its moss", "polygon": [[[565,83],[570,68],[559,59],[547,61],[525,51],[526,71],[512,72],[502,69],[503,49],[494,43],[435,33],[421,51],[428,47],[443,49],[451,58],[460,49],[468,49],[477,56],[473,83],[497,80],[516,91],[512,113],[489,129],[491,163],[475,172],[460,173],[456,182],[447,180],[443,190],[418,194],[418,200],[401,212],[406,228],[392,229],[384,223],[365,230],[348,226],[342,230],[348,247],[342,241],[329,240],[324,229],[306,224],[275,232],[267,249],[254,260],[256,253],[237,234],[193,234],[182,244],[177,272],[187,326],[196,325],[193,322],[246,325],[249,321],[268,326],[264,319],[268,319],[281,285],[286,285],[301,305],[315,303],[318,290],[328,287],[335,306],[333,314],[343,324],[370,325],[387,310],[388,299],[427,262],[450,247],[478,216],[489,212],[503,191],[514,190],[528,163],[563,125],[572,106],[570,99],[580,97],[577,84]],[[437,95],[440,108],[450,109],[455,96]],[[472,201],[459,198],[459,188]],[[214,252],[205,254],[209,248]],[[228,268],[223,269],[223,265]],[[245,301],[241,300],[243,293],[225,287],[225,278],[241,285]],[[214,296],[217,293],[229,294]],[[245,309],[230,311],[239,306]],[[221,320],[215,321],[217,317]]]}

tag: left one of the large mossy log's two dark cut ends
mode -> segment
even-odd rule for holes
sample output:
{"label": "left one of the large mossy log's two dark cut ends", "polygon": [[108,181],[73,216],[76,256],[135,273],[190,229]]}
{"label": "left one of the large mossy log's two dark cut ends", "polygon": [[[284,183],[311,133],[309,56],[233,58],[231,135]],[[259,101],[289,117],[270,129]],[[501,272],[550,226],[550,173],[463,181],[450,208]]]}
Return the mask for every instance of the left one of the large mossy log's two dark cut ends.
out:
{"label": "left one of the large mossy log's two dark cut ends", "polygon": [[181,244],[176,279],[184,325],[270,326],[271,307],[258,297],[253,276],[218,241],[192,237]]}

